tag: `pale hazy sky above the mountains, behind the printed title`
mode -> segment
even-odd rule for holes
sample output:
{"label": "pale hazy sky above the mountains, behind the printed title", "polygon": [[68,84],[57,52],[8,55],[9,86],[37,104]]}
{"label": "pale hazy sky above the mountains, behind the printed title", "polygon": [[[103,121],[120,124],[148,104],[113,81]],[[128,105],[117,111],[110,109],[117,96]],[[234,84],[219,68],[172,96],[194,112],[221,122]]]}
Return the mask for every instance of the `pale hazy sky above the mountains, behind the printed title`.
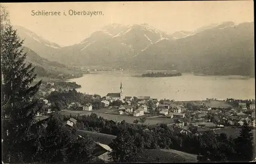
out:
{"label": "pale hazy sky above the mountains, behind the printed title", "polygon": [[[109,24],[148,24],[169,34],[193,31],[223,21],[251,22],[253,1],[3,3],[13,25],[23,26],[61,46],[79,43]],[[33,16],[34,11],[60,16]],[[69,15],[72,11],[101,11],[101,15]],[[66,15],[63,15],[65,11]]]}

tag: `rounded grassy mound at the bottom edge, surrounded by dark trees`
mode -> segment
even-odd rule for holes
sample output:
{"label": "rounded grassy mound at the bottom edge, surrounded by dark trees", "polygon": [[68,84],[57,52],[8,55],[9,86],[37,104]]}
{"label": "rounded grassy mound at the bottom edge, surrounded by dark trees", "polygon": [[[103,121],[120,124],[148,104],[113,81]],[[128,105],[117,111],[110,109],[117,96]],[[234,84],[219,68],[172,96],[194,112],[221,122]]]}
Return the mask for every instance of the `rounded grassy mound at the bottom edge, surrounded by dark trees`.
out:
{"label": "rounded grassy mound at the bottom edge, surrounded by dark trees", "polygon": [[197,162],[197,155],[173,149],[144,149],[139,153],[139,162]]}

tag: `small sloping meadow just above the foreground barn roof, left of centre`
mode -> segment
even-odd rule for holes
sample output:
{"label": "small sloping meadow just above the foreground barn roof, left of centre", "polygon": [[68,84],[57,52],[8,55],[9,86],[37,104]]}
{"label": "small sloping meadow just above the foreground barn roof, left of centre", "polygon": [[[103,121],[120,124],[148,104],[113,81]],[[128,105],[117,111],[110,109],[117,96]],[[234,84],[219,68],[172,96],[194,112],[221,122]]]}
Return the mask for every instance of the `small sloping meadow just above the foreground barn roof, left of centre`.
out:
{"label": "small sloping meadow just above the foreground barn roof, left of centre", "polygon": [[113,139],[116,138],[115,135],[103,134],[98,132],[86,131],[86,130],[77,130],[79,135],[89,135],[93,138],[95,142],[99,142],[101,144],[109,145]]}

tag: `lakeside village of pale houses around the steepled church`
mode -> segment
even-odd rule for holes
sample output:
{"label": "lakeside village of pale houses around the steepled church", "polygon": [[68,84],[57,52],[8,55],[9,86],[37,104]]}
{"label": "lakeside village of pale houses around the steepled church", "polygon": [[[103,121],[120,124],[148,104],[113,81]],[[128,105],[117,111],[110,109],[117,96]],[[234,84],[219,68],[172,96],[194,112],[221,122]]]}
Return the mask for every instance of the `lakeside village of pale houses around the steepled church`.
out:
{"label": "lakeside village of pale houses around the steepled church", "polygon": [[[48,87],[48,94],[55,90],[60,92],[70,90],[69,87],[55,86],[53,82],[49,82],[47,85],[51,86]],[[37,113],[37,116],[54,112],[51,108],[53,102],[45,99],[44,95],[41,96],[40,99],[44,102],[47,112]],[[138,120],[144,118],[148,125],[153,125],[159,121],[159,124],[166,123],[185,131],[189,131],[189,126],[202,128],[202,131],[206,131],[205,129],[241,127],[244,122],[255,128],[255,101],[234,103],[234,100],[206,99],[205,101],[175,102],[174,100],[158,100],[150,96],[129,97],[124,96],[122,83],[120,84],[120,92],[108,93],[102,98],[87,94],[86,96],[97,99],[97,102],[100,102],[100,107],[97,106],[96,109],[96,106],[92,103],[72,102],[65,104],[61,108],[61,113],[81,115],[94,112],[105,119],[116,120],[117,122],[125,120],[130,123],[138,123]]]}

